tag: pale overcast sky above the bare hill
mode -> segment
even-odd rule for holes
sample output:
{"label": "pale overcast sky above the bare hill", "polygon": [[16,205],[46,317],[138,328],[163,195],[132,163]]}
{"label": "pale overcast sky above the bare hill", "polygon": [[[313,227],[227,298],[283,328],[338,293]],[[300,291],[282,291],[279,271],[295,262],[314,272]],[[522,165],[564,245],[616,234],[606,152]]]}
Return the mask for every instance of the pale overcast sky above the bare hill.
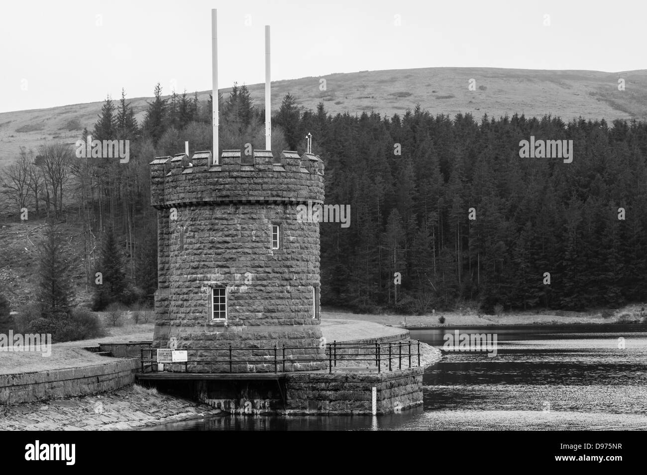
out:
{"label": "pale overcast sky above the bare hill", "polygon": [[0,112],[335,72],[425,67],[647,69],[647,2],[600,0],[8,0]]}

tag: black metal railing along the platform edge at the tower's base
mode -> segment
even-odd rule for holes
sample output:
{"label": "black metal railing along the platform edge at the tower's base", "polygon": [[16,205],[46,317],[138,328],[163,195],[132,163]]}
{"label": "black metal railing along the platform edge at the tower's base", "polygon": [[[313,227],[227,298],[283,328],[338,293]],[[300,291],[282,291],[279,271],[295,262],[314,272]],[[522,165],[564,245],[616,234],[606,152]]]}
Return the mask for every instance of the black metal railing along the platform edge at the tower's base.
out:
{"label": "black metal railing along the platform edge at the tower's base", "polygon": [[[411,352],[411,345],[415,345],[414,352]],[[285,372],[286,364],[303,364],[303,363],[321,363],[322,359],[313,359],[312,355],[296,355],[298,350],[313,350],[316,346],[271,346],[266,348],[232,348],[232,346],[221,348],[177,348],[186,350],[187,361],[182,362],[165,362],[158,363],[157,357],[153,358],[153,352],[157,356],[157,348],[141,348],[141,370],[142,373],[153,372],[157,370],[159,364],[173,364],[184,368],[183,372],[196,372],[198,366],[201,367],[199,372],[204,373],[234,373],[234,365],[262,365],[267,366],[271,372],[272,366],[274,373],[279,369]],[[251,353],[251,354],[250,354]],[[259,353],[267,353],[258,355]],[[198,357],[196,354],[200,354]],[[205,356],[206,354],[206,356]],[[406,367],[411,368],[411,358],[417,357],[417,366],[420,366],[420,342],[397,342],[397,343],[344,343],[334,341],[325,345],[325,355],[328,359],[328,370],[333,372],[333,368],[349,367],[356,363],[367,363],[367,367],[375,365],[377,372],[388,368],[393,371],[395,363],[397,368],[402,369],[402,362]],[[204,371],[207,369],[208,371]],[[181,371],[182,372],[182,371]]]}

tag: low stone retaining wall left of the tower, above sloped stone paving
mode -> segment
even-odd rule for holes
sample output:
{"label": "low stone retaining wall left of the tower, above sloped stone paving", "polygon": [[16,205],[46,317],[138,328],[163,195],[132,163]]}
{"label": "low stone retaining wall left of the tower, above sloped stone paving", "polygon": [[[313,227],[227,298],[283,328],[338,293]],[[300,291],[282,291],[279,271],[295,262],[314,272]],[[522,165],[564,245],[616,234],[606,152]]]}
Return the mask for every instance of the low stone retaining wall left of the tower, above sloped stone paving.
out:
{"label": "low stone retaining wall left of the tower, above sloped stone paving", "polygon": [[135,381],[140,359],[23,374],[0,374],[0,404],[111,391]]}

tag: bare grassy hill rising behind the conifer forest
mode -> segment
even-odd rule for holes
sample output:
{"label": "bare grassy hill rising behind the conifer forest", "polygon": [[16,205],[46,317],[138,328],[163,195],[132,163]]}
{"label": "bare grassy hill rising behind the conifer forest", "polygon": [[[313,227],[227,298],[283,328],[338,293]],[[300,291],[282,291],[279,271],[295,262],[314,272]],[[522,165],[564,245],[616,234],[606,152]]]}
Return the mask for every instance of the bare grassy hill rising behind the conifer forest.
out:
{"label": "bare grassy hill rising behind the conifer forest", "polygon": [[[326,90],[320,90],[320,79]],[[477,89],[468,90],[470,78]],[[626,90],[618,90],[624,78]],[[151,90],[154,84],[151,83]],[[127,83],[124,83],[126,90]],[[263,84],[248,86],[257,105],[263,106]],[[221,89],[227,96],[230,89]],[[191,94],[193,91],[189,91]],[[553,114],[564,120],[637,118],[647,120],[647,70],[600,72],[580,70],[529,70],[500,68],[421,68],[329,74],[272,83],[272,109],[278,110],[290,92],[299,105],[315,109],[323,102],[337,112],[375,111],[391,116],[413,109],[417,103],[432,114],[470,112],[499,117],[515,112],[526,116]],[[210,91],[198,93],[206,101]],[[98,98],[102,99],[102,98]],[[117,99],[117,98],[115,98]],[[151,98],[130,99],[141,120]],[[83,130],[91,129],[102,101],[50,109],[0,113],[0,165],[12,161],[19,147],[47,140],[74,143]]]}

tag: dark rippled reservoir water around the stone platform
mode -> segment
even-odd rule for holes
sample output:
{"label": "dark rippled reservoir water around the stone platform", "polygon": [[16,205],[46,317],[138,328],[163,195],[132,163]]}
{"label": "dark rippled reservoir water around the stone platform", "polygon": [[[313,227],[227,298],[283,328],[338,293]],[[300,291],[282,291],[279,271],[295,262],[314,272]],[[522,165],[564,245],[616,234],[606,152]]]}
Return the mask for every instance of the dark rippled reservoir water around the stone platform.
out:
{"label": "dark rippled reservoir water around the stone platform", "polygon": [[[496,333],[497,355],[444,352],[424,405],[386,416],[214,416],[149,430],[646,430],[647,325],[444,327]],[[624,346],[624,348],[623,348]]]}

